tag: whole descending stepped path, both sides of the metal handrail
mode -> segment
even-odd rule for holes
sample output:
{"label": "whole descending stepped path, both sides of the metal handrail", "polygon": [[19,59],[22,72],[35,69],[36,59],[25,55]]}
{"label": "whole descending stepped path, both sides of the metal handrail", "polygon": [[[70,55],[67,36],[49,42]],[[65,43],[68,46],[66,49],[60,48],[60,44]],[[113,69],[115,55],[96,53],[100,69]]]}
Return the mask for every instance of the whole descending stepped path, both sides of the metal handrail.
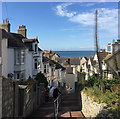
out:
{"label": "whole descending stepped path, both sides of the metal handrail", "polygon": [[[49,102],[46,102],[44,105],[41,105],[38,110],[30,115],[30,118],[32,119],[41,119],[44,117],[54,118],[53,99],[51,99]],[[63,95],[63,100],[59,108],[59,117],[76,117],[75,119],[84,119],[84,116],[80,111],[78,95],[75,93]]]}

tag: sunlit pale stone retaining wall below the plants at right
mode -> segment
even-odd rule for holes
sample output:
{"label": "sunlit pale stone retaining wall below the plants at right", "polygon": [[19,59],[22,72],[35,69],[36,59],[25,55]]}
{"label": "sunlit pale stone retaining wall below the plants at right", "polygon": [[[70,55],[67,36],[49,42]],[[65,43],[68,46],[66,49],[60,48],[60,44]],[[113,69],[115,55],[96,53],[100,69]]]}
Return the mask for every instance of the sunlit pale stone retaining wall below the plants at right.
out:
{"label": "sunlit pale stone retaining wall below the plants at right", "polygon": [[86,96],[83,92],[81,93],[82,101],[82,112],[86,118],[92,117],[113,117],[113,114],[110,113],[111,107],[105,103],[98,104],[94,102],[92,98]]}

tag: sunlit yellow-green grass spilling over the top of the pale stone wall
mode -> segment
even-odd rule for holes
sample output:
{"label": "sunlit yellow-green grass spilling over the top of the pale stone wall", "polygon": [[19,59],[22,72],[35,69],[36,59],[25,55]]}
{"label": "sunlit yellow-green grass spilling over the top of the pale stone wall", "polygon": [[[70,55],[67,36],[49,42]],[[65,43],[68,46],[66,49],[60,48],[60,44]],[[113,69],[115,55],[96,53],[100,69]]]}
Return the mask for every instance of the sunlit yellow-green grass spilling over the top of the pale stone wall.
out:
{"label": "sunlit yellow-green grass spilling over the top of the pale stone wall", "polygon": [[114,114],[117,113],[120,116],[120,91],[117,89],[118,87],[116,87],[116,89],[114,88],[112,92],[110,90],[106,90],[103,94],[101,94],[99,88],[94,88],[86,87],[82,91],[98,104],[108,104],[110,107],[112,107],[111,112],[113,112]]}

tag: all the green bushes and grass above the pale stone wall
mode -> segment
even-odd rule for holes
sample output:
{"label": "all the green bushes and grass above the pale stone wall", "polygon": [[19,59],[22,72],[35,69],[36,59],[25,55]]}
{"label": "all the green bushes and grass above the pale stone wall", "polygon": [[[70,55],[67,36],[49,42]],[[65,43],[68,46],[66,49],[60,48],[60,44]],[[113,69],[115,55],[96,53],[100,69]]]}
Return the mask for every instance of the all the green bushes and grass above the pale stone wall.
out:
{"label": "all the green bushes and grass above the pale stone wall", "polygon": [[[97,75],[88,77],[88,80],[84,83],[79,84],[81,90],[83,90],[86,95],[89,95],[98,103],[107,103],[109,104],[114,112],[120,113],[120,88],[119,80],[113,78],[112,80],[102,79],[103,83],[103,93],[101,93],[101,79]],[[86,90],[87,89],[87,90]],[[113,111],[112,110],[112,111]]]}

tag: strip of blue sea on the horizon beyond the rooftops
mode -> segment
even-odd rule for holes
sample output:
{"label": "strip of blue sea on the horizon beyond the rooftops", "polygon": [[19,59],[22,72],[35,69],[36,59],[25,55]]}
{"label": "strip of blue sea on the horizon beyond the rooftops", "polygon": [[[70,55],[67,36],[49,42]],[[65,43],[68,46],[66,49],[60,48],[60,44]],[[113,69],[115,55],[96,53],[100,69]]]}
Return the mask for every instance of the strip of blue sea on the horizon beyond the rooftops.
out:
{"label": "strip of blue sea on the horizon beyond the rooftops", "polygon": [[55,51],[60,57],[91,57],[95,51]]}

